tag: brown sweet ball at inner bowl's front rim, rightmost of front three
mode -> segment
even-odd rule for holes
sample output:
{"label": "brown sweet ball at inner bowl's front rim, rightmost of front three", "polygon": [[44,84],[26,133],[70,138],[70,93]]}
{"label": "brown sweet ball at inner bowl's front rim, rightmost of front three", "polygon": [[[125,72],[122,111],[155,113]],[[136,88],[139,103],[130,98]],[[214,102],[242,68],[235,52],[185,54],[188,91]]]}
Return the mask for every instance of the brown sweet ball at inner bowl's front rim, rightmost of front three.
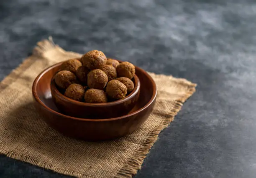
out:
{"label": "brown sweet ball at inner bowl's front rim, rightmost of front three", "polygon": [[125,95],[127,94],[127,88],[120,81],[111,80],[106,87],[106,93],[109,98],[119,100],[125,98]]}

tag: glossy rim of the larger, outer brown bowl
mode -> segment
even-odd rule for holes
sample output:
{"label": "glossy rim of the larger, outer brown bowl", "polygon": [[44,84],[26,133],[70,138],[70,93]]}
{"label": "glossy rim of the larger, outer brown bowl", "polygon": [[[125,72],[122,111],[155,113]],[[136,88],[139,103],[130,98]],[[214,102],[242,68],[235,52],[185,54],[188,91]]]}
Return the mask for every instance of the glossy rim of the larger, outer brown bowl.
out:
{"label": "glossy rim of the larger, outer brown bowl", "polygon": [[122,119],[122,118],[127,118],[127,117],[131,117],[133,115],[136,115],[138,113],[140,113],[141,111],[145,110],[146,108],[148,108],[148,106],[150,106],[154,100],[156,100],[156,95],[157,95],[157,91],[156,91],[156,83],[154,82],[153,78],[143,69],[139,68],[136,66],[136,68],[138,68],[139,70],[141,70],[141,72],[146,75],[149,80],[151,81],[152,83],[152,86],[153,86],[153,95],[151,96],[151,99],[148,101],[148,103],[146,103],[146,105],[144,105],[142,108],[134,111],[133,113],[128,113],[126,115],[122,115],[122,116],[119,116],[117,118],[107,118],[107,119],[90,119],[90,118],[75,118],[75,117],[72,117],[72,116],[69,116],[69,115],[64,115],[62,113],[59,113],[51,108],[49,108],[47,105],[45,105],[39,98],[37,92],[36,92],[36,86],[38,85],[38,82],[39,80],[42,78],[42,76],[48,72],[49,70],[51,70],[52,68],[55,68],[57,65],[60,65],[60,63],[63,63],[62,62],[59,62],[59,63],[56,63],[54,65],[51,65],[49,66],[48,68],[44,69],[37,77],[36,79],[34,80],[33,82],[33,85],[32,85],[32,95],[33,95],[33,98],[36,100],[37,103],[39,103],[40,105],[42,105],[46,110],[49,110],[51,113],[53,113],[54,115],[59,115],[61,117],[64,117],[64,118],[69,118],[69,119],[72,119],[72,120],[79,120],[79,121],[89,121],[89,122],[108,122],[108,121],[113,121],[113,120],[119,120],[119,119]]}

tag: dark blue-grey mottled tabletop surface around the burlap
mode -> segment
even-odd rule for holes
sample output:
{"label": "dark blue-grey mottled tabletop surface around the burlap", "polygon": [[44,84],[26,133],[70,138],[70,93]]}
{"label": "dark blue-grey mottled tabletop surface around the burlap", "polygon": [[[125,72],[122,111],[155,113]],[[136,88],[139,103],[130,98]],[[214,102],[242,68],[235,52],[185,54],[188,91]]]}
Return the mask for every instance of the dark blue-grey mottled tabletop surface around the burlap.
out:
{"label": "dark blue-grey mottled tabletop surface around the burlap", "polygon": [[[1,0],[0,79],[52,35],[198,84],[136,178],[255,178],[253,0]],[[68,177],[0,156],[0,177]]]}

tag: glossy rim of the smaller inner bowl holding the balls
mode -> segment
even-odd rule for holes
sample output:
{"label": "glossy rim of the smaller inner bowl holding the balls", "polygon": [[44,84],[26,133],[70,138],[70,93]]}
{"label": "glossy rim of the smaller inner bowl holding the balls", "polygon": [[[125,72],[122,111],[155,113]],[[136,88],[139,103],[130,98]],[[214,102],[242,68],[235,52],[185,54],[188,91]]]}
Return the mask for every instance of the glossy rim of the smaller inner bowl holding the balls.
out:
{"label": "glossy rim of the smaller inner bowl holding the balls", "polygon": [[51,84],[50,85],[51,85],[51,89],[54,90],[54,93],[56,93],[65,102],[70,102],[70,103],[75,104],[75,105],[99,107],[99,108],[124,103],[125,101],[134,97],[139,92],[139,90],[141,88],[141,82],[140,82],[138,76],[134,75],[134,89],[131,93],[129,93],[127,96],[125,96],[125,98],[123,98],[121,100],[107,102],[107,103],[85,103],[85,102],[82,102],[82,101],[72,100],[71,98],[68,98],[67,96],[60,93],[59,90],[56,88],[56,84],[54,83],[54,78],[51,79]]}

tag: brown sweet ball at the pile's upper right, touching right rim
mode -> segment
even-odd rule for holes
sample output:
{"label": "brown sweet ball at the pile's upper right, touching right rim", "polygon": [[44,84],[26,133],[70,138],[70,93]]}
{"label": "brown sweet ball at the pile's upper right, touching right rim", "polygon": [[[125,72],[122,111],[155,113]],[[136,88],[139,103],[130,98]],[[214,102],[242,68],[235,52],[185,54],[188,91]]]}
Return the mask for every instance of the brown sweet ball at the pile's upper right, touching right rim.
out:
{"label": "brown sweet ball at the pile's upper right, touching right rim", "polygon": [[116,72],[118,77],[127,77],[132,79],[135,75],[135,66],[132,63],[123,62],[117,66]]}

